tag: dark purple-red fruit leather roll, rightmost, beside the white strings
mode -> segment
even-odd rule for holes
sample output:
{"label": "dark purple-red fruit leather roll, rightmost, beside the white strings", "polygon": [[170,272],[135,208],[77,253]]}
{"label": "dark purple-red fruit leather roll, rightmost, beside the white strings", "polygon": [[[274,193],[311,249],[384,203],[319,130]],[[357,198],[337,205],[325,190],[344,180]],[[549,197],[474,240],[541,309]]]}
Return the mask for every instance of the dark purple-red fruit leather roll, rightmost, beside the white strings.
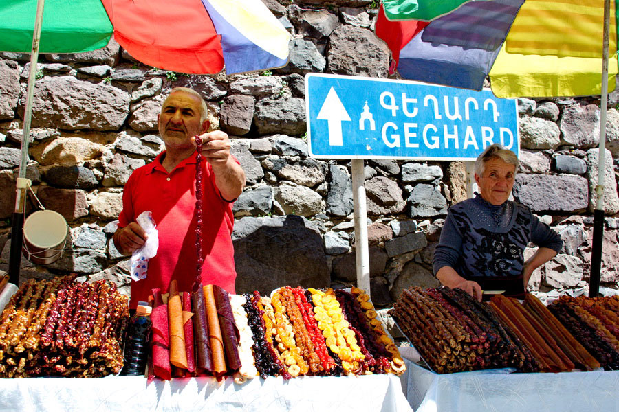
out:
{"label": "dark purple-red fruit leather roll, rightmost, beside the white strings", "polygon": [[217,317],[219,318],[219,328],[221,337],[224,340],[224,354],[226,355],[226,366],[228,371],[237,371],[241,367],[239,357],[239,329],[235,323],[235,315],[232,313],[228,292],[220,286],[213,285],[213,297],[217,306]]}

